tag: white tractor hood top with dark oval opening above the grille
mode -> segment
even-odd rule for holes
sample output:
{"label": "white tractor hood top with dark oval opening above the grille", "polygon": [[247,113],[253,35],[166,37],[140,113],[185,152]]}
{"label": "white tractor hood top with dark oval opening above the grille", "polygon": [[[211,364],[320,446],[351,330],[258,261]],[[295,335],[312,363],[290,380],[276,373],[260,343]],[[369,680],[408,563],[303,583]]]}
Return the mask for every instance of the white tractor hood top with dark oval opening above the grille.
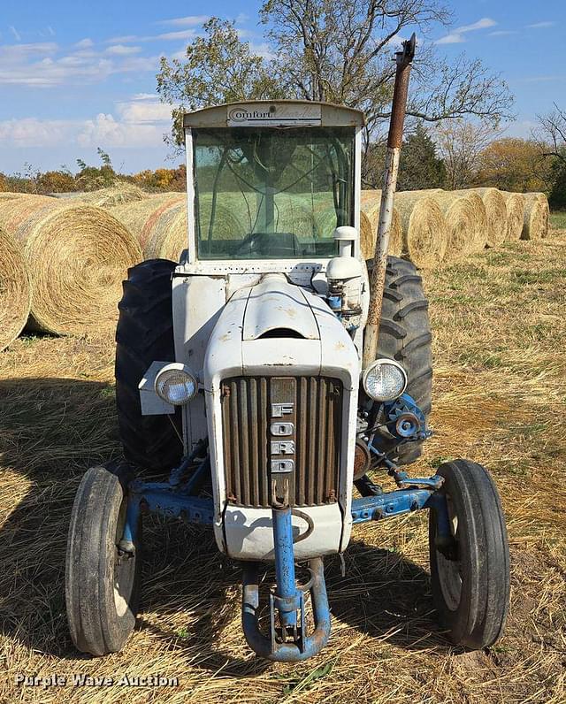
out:
{"label": "white tractor hood top with dark oval opening above the grille", "polygon": [[226,302],[210,335],[203,368],[206,391],[239,376],[333,376],[357,387],[354,342],[317,295],[266,274]]}

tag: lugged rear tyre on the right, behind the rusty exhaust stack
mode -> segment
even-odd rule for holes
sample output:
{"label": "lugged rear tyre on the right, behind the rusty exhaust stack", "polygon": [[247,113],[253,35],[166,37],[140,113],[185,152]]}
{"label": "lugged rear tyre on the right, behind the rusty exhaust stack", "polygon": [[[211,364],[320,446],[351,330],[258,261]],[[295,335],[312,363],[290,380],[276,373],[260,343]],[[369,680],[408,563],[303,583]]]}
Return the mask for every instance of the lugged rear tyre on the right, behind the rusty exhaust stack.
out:
{"label": "lugged rear tyre on the right, behind the rusty exhaust stack", "polygon": [[[432,408],[432,334],[423,279],[412,262],[387,257],[386,283],[379,323],[378,356],[396,359],[407,371],[407,394],[427,417]],[[410,464],[421,455],[421,442],[404,443],[396,462]]]}

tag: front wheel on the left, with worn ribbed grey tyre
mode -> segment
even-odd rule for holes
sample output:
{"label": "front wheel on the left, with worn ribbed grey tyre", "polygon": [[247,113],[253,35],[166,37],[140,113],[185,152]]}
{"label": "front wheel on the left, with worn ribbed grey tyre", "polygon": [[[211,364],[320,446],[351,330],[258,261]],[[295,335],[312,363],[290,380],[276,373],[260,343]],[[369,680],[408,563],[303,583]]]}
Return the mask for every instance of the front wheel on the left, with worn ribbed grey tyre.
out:
{"label": "front wheel on the left, with worn ribbed grey tyre", "polygon": [[126,508],[115,473],[102,466],[86,472],[73,504],[65,567],[67,620],[83,653],[118,652],[134,630],[141,556],[139,540],[134,554],[119,549]]}

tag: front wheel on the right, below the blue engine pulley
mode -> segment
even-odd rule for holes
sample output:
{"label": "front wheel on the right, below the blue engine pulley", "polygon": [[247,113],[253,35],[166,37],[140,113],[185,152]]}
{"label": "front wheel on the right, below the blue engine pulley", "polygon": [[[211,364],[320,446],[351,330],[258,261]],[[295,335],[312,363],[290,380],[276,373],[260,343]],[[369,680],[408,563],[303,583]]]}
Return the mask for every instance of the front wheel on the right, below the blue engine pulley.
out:
{"label": "front wheel on the right, below the blue engine pulley", "polygon": [[[509,545],[501,501],[484,467],[440,465],[440,501],[429,519],[432,596],[455,645],[478,650],[500,638],[509,608]],[[446,530],[441,537],[441,510]]]}

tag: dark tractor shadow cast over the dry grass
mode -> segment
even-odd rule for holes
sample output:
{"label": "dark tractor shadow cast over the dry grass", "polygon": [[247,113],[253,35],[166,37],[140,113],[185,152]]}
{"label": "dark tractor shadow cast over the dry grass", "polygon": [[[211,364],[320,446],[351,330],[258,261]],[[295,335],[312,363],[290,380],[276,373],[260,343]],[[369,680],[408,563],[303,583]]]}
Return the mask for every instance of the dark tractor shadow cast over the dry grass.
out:
{"label": "dark tractor shadow cast over the dry grass", "polygon": [[[66,534],[83,472],[119,456],[113,386],[0,380],[0,417],[0,630],[36,651],[76,660],[65,616]],[[270,668],[222,651],[224,629],[239,618],[241,567],[218,554],[210,529],[151,517],[144,540],[137,628],[195,651],[195,665],[206,670],[246,677]],[[446,646],[424,570],[356,541],[346,561],[345,578],[337,558],[326,561],[335,619],[400,647]]]}

